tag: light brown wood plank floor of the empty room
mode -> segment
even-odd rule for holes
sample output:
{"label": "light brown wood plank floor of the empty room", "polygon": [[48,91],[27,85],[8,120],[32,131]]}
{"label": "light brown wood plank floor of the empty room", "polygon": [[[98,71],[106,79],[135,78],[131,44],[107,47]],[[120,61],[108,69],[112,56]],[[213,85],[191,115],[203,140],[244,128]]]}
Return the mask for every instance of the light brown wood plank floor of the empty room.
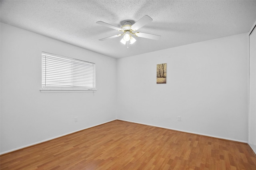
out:
{"label": "light brown wood plank floor of the empty room", "polygon": [[248,144],[124,121],[0,158],[1,170],[256,170]]}

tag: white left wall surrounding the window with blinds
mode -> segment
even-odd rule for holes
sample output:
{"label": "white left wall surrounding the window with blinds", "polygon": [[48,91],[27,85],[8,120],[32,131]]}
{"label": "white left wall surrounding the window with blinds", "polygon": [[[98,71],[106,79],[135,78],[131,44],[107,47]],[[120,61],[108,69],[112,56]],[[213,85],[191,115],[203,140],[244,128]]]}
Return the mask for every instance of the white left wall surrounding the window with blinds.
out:
{"label": "white left wall surrounding the window with blinds", "polygon": [[[96,63],[97,92],[40,93],[42,51]],[[116,59],[1,23],[1,153],[112,121],[115,104]]]}

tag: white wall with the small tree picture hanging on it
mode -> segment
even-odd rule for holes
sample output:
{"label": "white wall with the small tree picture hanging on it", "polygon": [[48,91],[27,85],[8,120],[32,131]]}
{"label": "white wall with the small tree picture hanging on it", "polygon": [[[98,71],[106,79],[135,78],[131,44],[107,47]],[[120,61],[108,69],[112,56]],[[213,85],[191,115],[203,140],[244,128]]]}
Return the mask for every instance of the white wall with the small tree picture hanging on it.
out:
{"label": "white wall with the small tree picture hanging on it", "polygon": [[248,142],[246,33],[118,59],[117,80],[118,119]]}

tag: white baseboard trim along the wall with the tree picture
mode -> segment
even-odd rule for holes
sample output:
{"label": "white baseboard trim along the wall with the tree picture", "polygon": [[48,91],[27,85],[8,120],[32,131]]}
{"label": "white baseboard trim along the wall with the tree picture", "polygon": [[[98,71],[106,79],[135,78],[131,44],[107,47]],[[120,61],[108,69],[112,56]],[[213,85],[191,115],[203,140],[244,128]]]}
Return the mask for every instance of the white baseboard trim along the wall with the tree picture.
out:
{"label": "white baseboard trim along the wall with the tree picture", "polygon": [[[117,119],[117,120],[120,120],[120,121],[126,121],[126,120],[122,120],[122,119]],[[202,135],[202,136],[208,136],[208,137],[213,137],[213,138],[220,138],[220,139],[231,140],[231,141],[235,141],[235,142],[242,142],[242,143],[247,143],[247,144],[248,144],[248,142],[247,142],[247,141],[243,141],[243,140],[236,140],[236,139],[230,139],[230,138],[223,138],[223,137],[220,137],[220,136],[213,136],[213,135],[208,135],[208,134],[202,134],[202,133],[190,132],[190,131],[186,131],[186,130],[180,130],[180,129],[175,129],[175,128],[168,128],[168,127],[162,127],[162,126],[150,125],[150,124],[146,124],[146,123],[139,123],[139,122],[134,122],[134,121],[126,121],[126,122],[138,123],[138,124],[141,124],[141,125],[148,125],[148,126],[152,126],[152,127],[166,128],[166,129],[170,129],[170,130],[176,130],[176,131],[179,131],[179,132],[186,132],[186,133],[192,133],[192,134],[199,134],[199,135]]]}

